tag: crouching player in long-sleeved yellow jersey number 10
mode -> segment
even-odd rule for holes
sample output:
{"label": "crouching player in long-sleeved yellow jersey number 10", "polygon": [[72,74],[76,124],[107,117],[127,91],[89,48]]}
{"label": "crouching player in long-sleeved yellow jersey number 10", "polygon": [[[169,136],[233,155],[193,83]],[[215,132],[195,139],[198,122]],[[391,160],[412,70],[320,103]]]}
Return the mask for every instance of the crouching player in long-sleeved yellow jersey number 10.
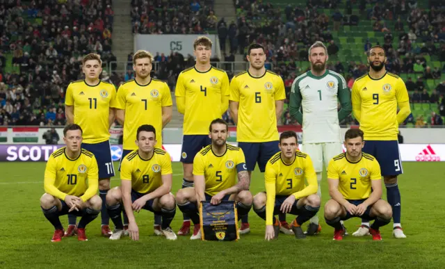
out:
{"label": "crouching player in long-sleeved yellow jersey number 10", "polygon": [[63,227],[59,216],[72,214],[82,217],[77,226],[77,239],[87,241],[85,227],[92,222],[102,206],[97,193],[98,177],[95,156],[81,149],[82,129],[68,124],[63,129],[66,147],[49,156],[44,170],[44,195],[40,198],[43,215],[54,226],[53,242],[62,240]]}

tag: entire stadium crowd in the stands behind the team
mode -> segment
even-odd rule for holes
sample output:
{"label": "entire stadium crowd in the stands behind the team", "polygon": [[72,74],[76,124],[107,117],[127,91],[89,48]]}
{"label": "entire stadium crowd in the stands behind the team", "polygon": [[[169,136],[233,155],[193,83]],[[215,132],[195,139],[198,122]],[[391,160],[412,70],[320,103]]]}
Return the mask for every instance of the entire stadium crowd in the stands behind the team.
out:
{"label": "entire stadium crowd in the stands behind the team", "polygon": [[[332,31],[338,31],[342,25],[359,25],[362,19],[372,20],[373,30],[385,33],[382,46],[387,51],[387,70],[408,74],[405,82],[412,102],[439,106],[440,115],[445,116],[445,81],[439,82],[445,67],[432,67],[428,62],[432,56],[442,63],[445,61],[442,1],[430,1],[428,12],[419,8],[415,0],[379,1],[368,9],[364,0],[346,1],[344,14],[337,8],[337,0],[307,1],[305,6],[288,5],[281,10],[273,3],[258,0],[236,0],[234,5],[238,19],[226,22],[216,17],[212,0],[132,0],[133,32],[215,31],[223,51],[220,60],[227,62],[234,62],[237,52],[245,53],[250,42],[264,44],[266,68],[282,76],[289,97],[293,80],[309,68],[298,62],[307,62],[310,44],[321,40],[326,42],[330,56],[341,54],[346,44],[334,42]],[[322,8],[335,11],[328,16]],[[363,16],[353,14],[353,8],[358,8]],[[99,53],[104,65],[116,60],[111,52],[113,14],[110,0],[39,0],[26,4],[0,1],[0,124],[65,124],[64,91],[70,81],[81,79],[81,56]],[[389,21],[394,22],[394,28],[387,26],[385,22]],[[395,43],[398,47],[393,47]],[[368,40],[364,51],[372,45]],[[169,56],[153,52],[157,62],[154,77],[167,81],[170,89],[175,90],[177,76],[181,70],[193,66],[193,57],[177,52]],[[6,72],[8,55],[12,56],[13,70]],[[330,60],[327,67],[345,74],[350,88],[368,70],[366,63],[355,61]],[[126,74],[104,71],[102,80],[119,85],[133,79],[133,71],[128,70]],[[227,71],[231,78],[233,73]],[[437,81],[432,91],[426,87],[430,79]],[[229,113],[225,120],[232,123]],[[295,124],[286,110],[282,124]],[[342,124],[357,122],[348,117]]]}

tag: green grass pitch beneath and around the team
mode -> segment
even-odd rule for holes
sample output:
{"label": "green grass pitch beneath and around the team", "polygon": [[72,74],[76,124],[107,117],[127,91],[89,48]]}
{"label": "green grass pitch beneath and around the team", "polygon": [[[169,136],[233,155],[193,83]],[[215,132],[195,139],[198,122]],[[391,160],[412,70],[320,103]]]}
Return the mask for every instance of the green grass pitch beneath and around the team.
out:
{"label": "green grass pitch beneath and around the team", "polygon": [[[87,227],[89,241],[76,237],[51,243],[53,227],[40,210],[44,193],[44,163],[1,163],[0,176],[0,268],[444,268],[444,164],[403,163],[399,178],[402,222],[407,238],[391,236],[392,222],[382,227],[383,241],[371,236],[346,236],[332,241],[333,229],[323,220],[327,183],[322,185],[321,234],[297,241],[280,234],[277,241],[264,241],[264,221],[250,212],[250,234],[238,242],[177,241],[153,235],[153,214],[136,214],[140,241],[110,241],[99,236],[100,217]],[[118,170],[118,163],[115,163]],[[173,164],[173,193],[181,188],[181,163]],[[119,175],[112,185],[119,184]],[[325,179],[325,177],[324,177]],[[263,175],[254,172],[253,194],[264,190]],[[385,188],[384,188],[385,191]],[[383,197],[386,199],[386,194]],[[291,221],[288,215],[288,221]],[[172,229],[177,231],[178,210]],[[67,217],[61,217],[65,228]],[[346,222],[352,234],[359,219]],[[306,227],[306,225],[305,225]]]}

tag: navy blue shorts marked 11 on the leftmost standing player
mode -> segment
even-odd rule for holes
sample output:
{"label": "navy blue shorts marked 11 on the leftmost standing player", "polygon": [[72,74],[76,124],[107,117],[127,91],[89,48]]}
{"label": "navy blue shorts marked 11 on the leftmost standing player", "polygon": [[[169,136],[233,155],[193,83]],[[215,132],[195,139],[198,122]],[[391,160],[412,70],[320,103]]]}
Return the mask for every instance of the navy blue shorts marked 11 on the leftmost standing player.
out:
{"label": "navy blue shorts marked 11 on the leftmost standing player", "polygon": [[99,179],[114,177],[113,159],[111,158],[110,141],[96,144],[82,143],[82,148],[95,155],[99,168]]}

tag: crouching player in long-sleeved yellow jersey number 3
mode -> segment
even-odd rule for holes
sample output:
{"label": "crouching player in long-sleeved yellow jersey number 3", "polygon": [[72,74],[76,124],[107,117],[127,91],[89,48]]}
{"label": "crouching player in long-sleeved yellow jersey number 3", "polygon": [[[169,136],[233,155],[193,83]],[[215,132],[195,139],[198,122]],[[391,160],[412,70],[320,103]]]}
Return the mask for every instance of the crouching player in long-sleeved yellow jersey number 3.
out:
{"label": "crouching player in long-sleeved yellow jersey number 3", "polygon": [[266,193],[258,193],[253,199],[253,210],[266,220],[267,241],[280,233],[280,222],[274,215],[280,212],[297,215],[291,227],[295,237],[300,239],[306,237],[301,225],[320,209],[314,165],[309,155],[298,151],[297,134],[284,131],[280,135],[279,147],[280,152],[266,164]]}

